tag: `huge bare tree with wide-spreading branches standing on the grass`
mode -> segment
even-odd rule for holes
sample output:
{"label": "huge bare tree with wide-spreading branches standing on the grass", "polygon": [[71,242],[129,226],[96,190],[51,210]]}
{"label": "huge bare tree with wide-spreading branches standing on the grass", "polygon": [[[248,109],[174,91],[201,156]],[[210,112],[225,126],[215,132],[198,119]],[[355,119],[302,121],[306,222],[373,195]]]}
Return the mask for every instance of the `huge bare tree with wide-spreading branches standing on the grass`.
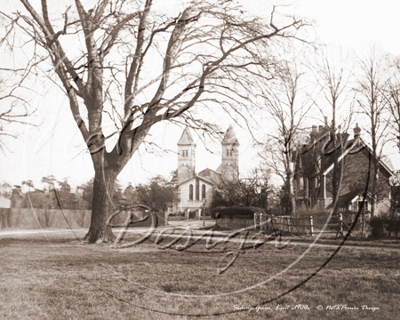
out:
{"label": "huge bare tree with wide-spreading branches standing on the grass", "polygon": [[[114,182],[152,126],[186,119],[210,129],[193,110],[216,103],[243,115],[249,88],[270,76],[266,66],[275,61],[264,48],[297,37],[304,25],[282,18],[278,26],[272,8],[268,19],[254,18],[234,1],[175,3],[182,10],[173,16],[152,0],[99,0],[90,8],[80,0],[58,3],[63,12],[46,0],[20,2],[25,12],[10,19],[35,43],[37,63],[51,63],[90,151],[90,243],[114,239],[106,225]],[[104,129],[105,114],[115,132]],[[111,148],[108,137],[117,137]]]}

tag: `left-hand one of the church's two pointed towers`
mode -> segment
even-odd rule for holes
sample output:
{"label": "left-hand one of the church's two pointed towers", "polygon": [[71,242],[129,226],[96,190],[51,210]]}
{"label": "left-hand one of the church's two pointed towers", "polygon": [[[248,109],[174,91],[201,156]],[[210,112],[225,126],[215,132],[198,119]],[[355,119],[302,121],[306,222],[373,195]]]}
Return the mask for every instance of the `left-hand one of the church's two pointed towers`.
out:
{"label": "left-hand one of the church's two pointed towers", "polygon": [[189,128],[186,127],[178,141],[178,184],[195,175],[196,144],[193,141]]}

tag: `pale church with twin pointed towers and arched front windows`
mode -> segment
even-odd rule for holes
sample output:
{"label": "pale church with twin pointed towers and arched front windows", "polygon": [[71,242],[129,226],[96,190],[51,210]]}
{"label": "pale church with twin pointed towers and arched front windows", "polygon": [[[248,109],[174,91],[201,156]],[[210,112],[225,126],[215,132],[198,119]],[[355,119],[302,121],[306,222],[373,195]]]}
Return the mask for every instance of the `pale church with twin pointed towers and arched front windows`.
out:
{"label": "pale church with twin pointed towers and arched front windows", "polygon": [[232,125],[221,143],[221,164],[216,169],[196,173],[196,144],[186,127],[178,141],[177,202],[173,211],[183,212],[209,207],[214,188],[222,181],[234,181],[239,176],[239,141]]}

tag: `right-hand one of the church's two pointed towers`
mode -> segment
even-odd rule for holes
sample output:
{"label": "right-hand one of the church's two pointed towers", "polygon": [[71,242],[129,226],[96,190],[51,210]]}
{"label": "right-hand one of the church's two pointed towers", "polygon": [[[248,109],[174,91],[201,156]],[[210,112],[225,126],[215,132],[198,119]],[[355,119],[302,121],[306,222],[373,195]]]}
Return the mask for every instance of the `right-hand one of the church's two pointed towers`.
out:
{"label": "right-hand one of the church's two pointed towers", "polygon": [[223,181],[235,181],[239,178],[239,140],[232,125],[222,140],[221,175]]}

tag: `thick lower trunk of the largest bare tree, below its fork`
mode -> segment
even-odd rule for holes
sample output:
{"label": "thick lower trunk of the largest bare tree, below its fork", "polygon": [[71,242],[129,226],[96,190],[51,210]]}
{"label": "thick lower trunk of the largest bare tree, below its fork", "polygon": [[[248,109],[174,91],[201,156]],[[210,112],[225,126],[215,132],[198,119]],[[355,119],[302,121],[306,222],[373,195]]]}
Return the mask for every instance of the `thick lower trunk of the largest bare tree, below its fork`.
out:
{"label": "thick lower trunk of the largest bare tree, below its fork", "polygon": [[111,214],[114,183],[117,177],[112,171],[99,170],[93,184],[92,217],[89,232],[84,237],[89,243],[113,242],[115,236],[106,221]]}

